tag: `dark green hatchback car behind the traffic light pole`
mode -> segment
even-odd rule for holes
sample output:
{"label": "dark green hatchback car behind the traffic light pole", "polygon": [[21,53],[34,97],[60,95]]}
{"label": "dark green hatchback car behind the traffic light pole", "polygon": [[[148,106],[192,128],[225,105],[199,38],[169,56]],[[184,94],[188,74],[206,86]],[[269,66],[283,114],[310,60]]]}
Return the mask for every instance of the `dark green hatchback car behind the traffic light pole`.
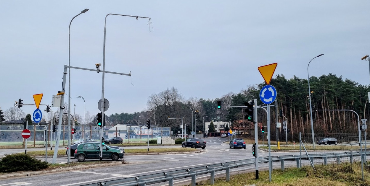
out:
{"label": "dark green hatchback car behind the traffic light pole", "polygon": [[[99,142],[84,143],[78,145],[77,149],[74,151],[74,158],[79,162],[85,161],[85,159],[99,159],[100,158],[100,148]],[[107,145],[103,146],[103,158],[112,159],[113,161],[118,161],[118,159],[123,158],[124,152],[120,149],[110,148]]]}

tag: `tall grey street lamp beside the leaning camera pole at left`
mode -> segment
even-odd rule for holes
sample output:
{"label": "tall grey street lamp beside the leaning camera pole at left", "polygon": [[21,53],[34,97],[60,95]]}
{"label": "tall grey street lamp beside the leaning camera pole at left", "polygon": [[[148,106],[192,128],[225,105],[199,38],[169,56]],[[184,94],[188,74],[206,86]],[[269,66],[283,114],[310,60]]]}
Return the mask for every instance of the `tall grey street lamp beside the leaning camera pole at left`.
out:
{"label": "tall grey street lamp beside the leaning camera pole at left", "polygon": [[[86,8],[75,17],[87,12],[88,10],[89,9]],[[68,66],[71,66],[71,24],[75,17],[72,18],[68,27]],[[71,149],[71,68],[68,68],[68,149]],[[55,150],[58,151],[58,149]],[[68,162],[70,162],[70,155],[68,155]]]}

